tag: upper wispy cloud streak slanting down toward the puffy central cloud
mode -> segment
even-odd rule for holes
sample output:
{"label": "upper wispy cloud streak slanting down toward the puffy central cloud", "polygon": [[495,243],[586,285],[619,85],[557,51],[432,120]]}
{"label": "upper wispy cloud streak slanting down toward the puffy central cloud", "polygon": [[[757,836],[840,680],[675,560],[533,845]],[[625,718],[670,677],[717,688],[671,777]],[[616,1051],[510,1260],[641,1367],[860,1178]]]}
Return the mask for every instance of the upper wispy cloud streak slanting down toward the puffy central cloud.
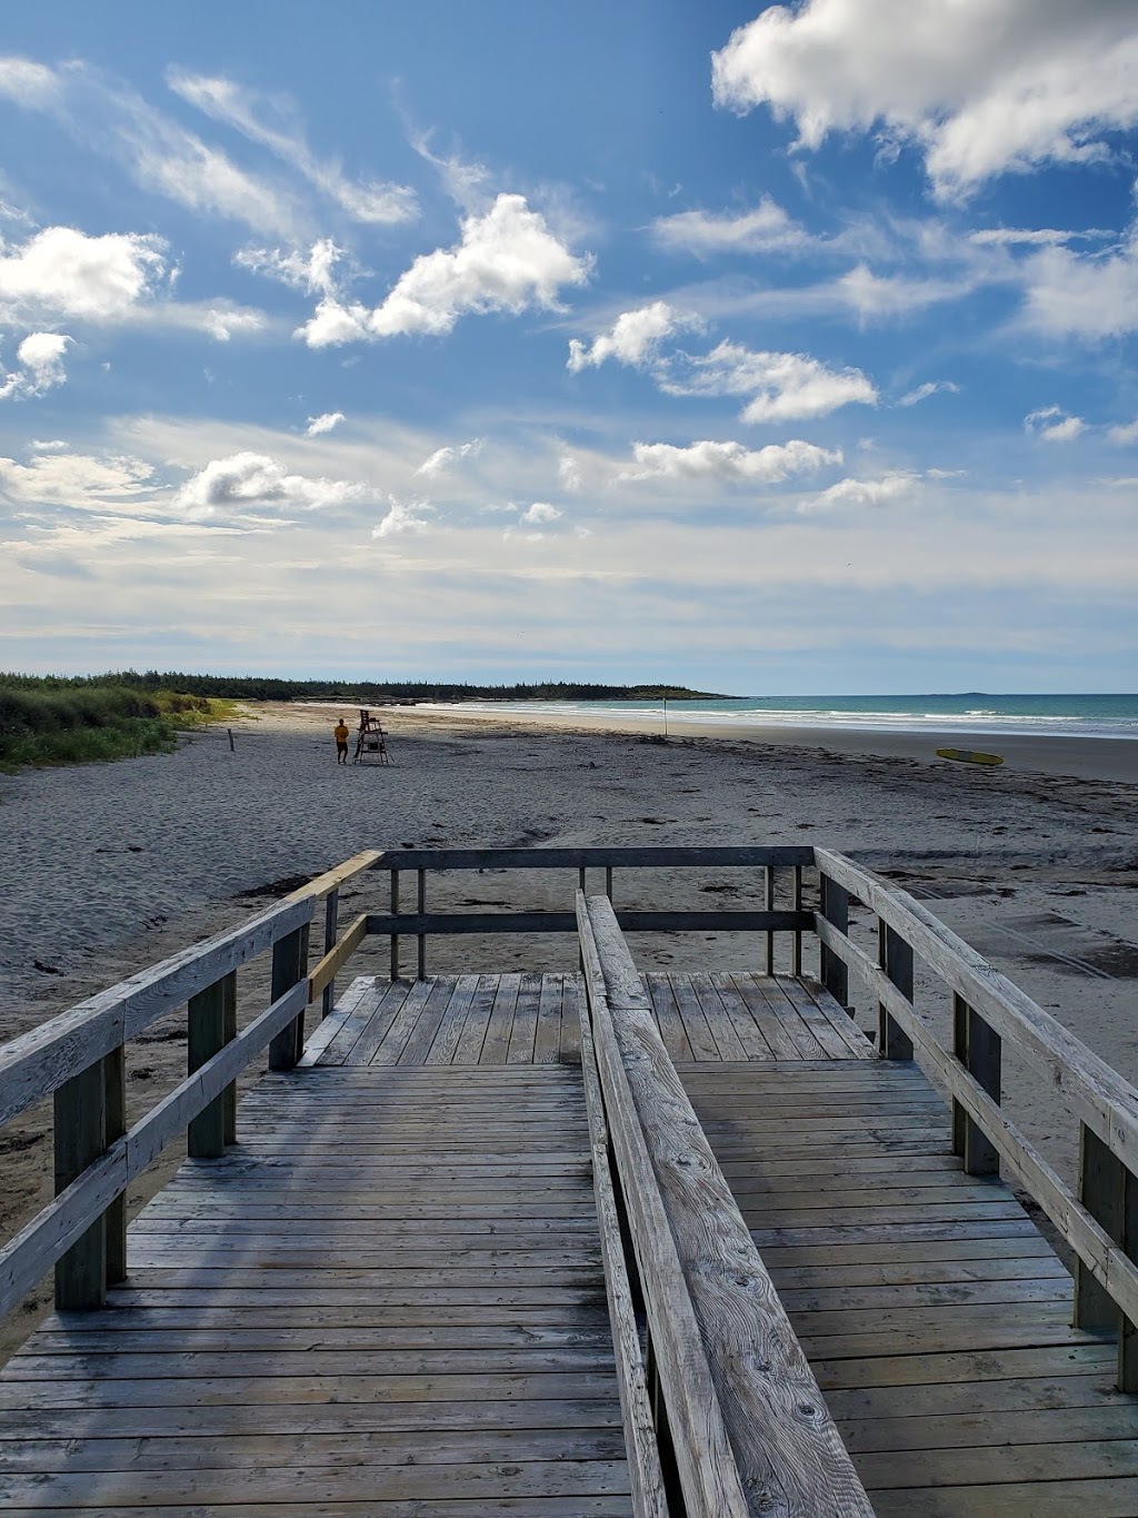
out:
{"label": "upper wispy cloud streak slanting down toward the puffy central cloud", "polygon": [[[319,159],[279,97],[269,99],[255,90],[243,90],[231,79],[209,79],[179,68],[167,71],[167,83],[199,111],[276,153],[357,222],[384,226],[410,222],[419,216],[419,200],[408,185],[347,179],[338,164]],[[266,115],[284,115],[284,120],[281,124],[272,124]]]}

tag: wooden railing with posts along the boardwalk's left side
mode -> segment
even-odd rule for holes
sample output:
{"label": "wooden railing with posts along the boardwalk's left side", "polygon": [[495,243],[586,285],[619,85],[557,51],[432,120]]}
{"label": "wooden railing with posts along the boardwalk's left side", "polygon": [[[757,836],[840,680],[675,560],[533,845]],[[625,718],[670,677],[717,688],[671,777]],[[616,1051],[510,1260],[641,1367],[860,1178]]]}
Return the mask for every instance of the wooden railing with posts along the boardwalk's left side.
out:
{"label": "wooden railing with posts along the boardwalk's left side", "polygon": [[[235,1140],[237,1076],[269,1046],[291,1069],[310,1000],[316,903],[378,859],[358,855],[240,927],[100,991],[0,1047],[0,1125],[53,1098],[55,1199],[0,1249],[0,1316],[55,1266],[59,1309],[91,1309],[126,1278],[126,1189],[182,1131],[196,1158]],[[334,938],[335,908],[326,923]],[[270,1005],[237,1031],[237,970],[272,949]],[[187,1006],[187,1078],[126,1128],[124,1046]]]}

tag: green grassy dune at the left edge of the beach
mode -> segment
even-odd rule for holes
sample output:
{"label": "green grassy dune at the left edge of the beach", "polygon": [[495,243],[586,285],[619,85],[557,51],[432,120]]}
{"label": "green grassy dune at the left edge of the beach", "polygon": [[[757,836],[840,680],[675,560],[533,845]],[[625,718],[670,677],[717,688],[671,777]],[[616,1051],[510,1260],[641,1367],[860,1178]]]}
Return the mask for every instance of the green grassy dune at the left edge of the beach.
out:
{"label": "green grassy dune at the left edge of the beach", "polygon": [[176,691],[0,674],[0,770],[171,753],[179,730],[231,713],[231,701]]}

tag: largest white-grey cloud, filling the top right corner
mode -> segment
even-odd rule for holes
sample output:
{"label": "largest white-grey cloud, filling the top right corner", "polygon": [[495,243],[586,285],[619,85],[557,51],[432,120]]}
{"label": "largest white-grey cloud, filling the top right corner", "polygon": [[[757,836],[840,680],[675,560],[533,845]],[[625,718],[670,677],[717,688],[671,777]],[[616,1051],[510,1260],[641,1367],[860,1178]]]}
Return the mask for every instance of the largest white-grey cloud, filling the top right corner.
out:
{"label": "largest white-grey cloud, filling the top right corner", "polygon": [[719,106],[768,105],[798,146],[831,131],[913,143],[941,196],[1004,172],[1108,156],[1138,121],[1138,33],[1118,0],[807,0],[769,6],[713,55]]}

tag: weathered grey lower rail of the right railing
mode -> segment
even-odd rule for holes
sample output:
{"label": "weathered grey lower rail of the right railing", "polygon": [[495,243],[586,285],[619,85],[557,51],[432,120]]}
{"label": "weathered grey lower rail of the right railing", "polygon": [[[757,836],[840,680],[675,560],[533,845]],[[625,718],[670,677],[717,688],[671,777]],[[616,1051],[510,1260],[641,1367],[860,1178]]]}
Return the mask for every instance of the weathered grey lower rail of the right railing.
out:
{"label": "weathered grey lower rail of the right railing", "polygon": [[1138,1321],[1138,1266],[1114,1243],[980,1082],[938,1043],[912,1002],[892,985],[885,972],[824,918],[818,921],[818,935],[865,979],[872,996],[886,1006],[912,1041],[921,1067],[965,1108],[1112,1301],[1130,1321]]}

